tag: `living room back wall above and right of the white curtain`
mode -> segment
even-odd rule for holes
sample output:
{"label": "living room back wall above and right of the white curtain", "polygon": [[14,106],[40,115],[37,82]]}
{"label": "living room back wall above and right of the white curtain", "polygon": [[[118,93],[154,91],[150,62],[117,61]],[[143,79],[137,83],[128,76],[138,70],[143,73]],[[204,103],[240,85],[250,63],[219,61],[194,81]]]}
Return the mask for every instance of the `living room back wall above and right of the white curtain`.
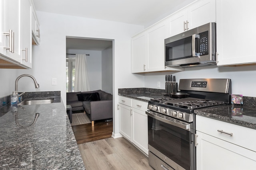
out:
{"label": "living room back wall above and right of the white curtain", "polygon": [[90,84],[90,90],[99,90],[102,86],[102,52],[93,50],[70,49],[68,54],[90,54],[86,56],[87,72]]}

